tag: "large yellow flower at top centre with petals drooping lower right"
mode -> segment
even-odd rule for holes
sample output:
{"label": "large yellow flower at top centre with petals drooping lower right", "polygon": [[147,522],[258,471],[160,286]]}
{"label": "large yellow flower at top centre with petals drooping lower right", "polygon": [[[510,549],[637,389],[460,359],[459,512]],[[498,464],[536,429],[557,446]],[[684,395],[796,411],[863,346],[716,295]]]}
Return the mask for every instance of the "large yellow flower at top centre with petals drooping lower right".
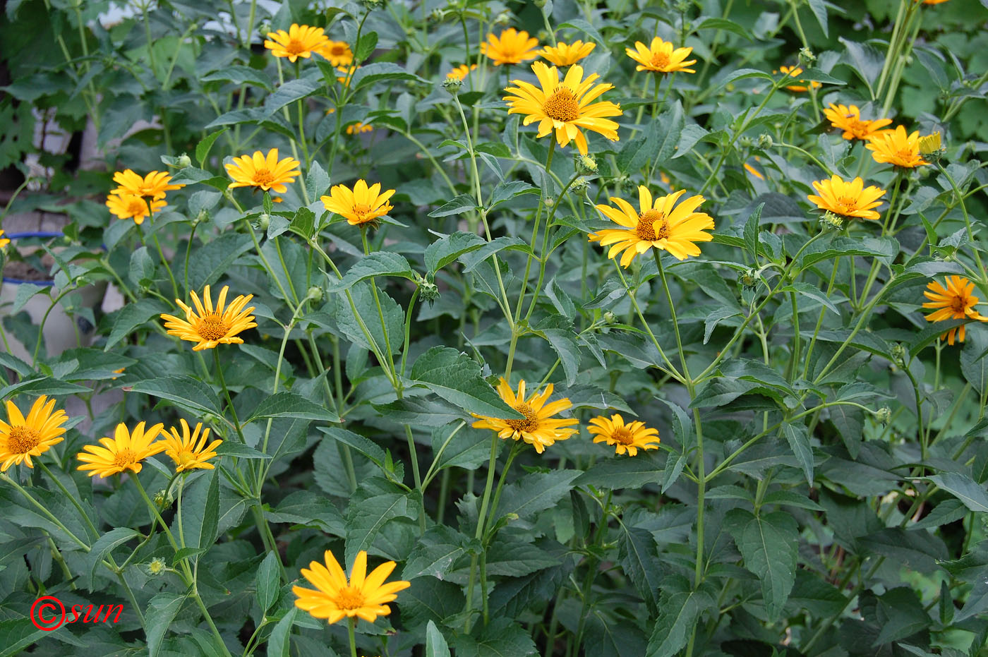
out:
{"label": "large yellow flower at top centre with petals drooping lower right", "polygon": [[613,89],[612,84],[594,82],[597,73],[583,79],[583,67],[574,64],[566,71],[566,77],[559,81],[559,69],[549,68],[540,61],[532,64],[540,89],[534,84],[514,80],[517,86],[505,89],[510,96],[504,100],[510,106],[508,114],[524,114],[523,124],[538,122],[538,133],[543,137],[555,130],[556,141],[565,146],[570,140],[576,141],[580,153],[587,154],[587,138],[581,127],[600,132],[608,139],[617,141],[617,123],[606,117],[621,116],[620,107],[611,101],[591,103],[604,92]]}

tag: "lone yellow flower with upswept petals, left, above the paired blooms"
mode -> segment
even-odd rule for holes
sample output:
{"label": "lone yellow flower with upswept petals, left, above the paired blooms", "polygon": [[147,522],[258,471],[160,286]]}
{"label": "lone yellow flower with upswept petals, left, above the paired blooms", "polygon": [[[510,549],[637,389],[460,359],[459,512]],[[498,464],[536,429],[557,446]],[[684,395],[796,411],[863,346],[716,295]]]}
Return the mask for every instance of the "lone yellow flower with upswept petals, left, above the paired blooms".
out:
{"label": "lone yellow flower with upswept petals, left, above the paired blooms", "polygon": [[244,296],[240,294],[224,310],[223,305],[226,303],[228,290],[229,286],[223,286],[219,291],[215,308],[213,308],[212,299],[209,297],[209,286],[203,290],[205,303],[200,303],[199,296],[195,291],[192,292],[192,302],[196,305],[195,310],[183,303],[182,299],[175,299],[175,302],[185,311],[186,319],[162,314],[161,318],[165,320],[168,335],[197,343],[192,348],[194,352],[212,349],[219,344],[243,344],[243,340],[236,337],[237,334],[257,326],[254,316],[250,314],[254,310],[254,306],[244,307],[254,298],[254,295]]}

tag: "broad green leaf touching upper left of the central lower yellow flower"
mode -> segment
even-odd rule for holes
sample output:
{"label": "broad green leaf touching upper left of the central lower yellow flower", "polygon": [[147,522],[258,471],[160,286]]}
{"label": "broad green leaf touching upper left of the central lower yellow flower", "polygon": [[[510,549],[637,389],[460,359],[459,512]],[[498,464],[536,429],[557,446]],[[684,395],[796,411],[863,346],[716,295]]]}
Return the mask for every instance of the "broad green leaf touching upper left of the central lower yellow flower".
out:
{"label": "broad green leaf touching upper left of the central lower yellow flower", "polygon": [[411,378],[467,412],[523,418],[484,380],[476,361],[451,347],[433,347],[420,356],[412,366]]}

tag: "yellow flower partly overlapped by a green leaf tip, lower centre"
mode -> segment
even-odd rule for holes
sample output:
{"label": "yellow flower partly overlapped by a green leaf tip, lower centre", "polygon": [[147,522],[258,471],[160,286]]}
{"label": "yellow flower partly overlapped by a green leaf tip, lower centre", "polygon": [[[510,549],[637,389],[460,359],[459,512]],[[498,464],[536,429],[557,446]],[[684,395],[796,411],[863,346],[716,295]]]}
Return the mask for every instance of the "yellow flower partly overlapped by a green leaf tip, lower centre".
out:
{"label": "yellow flower partly overlapped by a green leaf tip, lower centre", "polygon": [[563,397],[550,404],[545,402],[552,395],[552,384],[545,386],[545,390],[539,394],[533,393],[528,399],[525,398],[525,381],[518,382],[518,394],[511,389],[511,384],[502,376],[501,382],[497,386],[498,394],[506,404],[525,416],[520,420],[502,420],[487,415],[477,415],[479,418],[473,423],[475,429],[491,429],[503,439],[522,440],[535,447],[535,452],[541,453],[545,448],[550,447],[556,441],[565,441],[576,433],[576,429],[570,429],[575,424],[579,424],[576,419],[552,419],[552,416],[570,408],[573,403]]}

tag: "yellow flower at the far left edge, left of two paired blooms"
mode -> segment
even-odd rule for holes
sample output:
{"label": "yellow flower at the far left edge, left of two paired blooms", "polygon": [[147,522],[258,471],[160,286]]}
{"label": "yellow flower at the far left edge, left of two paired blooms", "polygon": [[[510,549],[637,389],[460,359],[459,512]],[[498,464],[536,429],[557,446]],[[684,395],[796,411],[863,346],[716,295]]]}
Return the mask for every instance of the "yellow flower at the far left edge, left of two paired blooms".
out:
{"label": "yellow flower at the far left edge, left of two paired blooms", "polygon": [[43,394],[32,404],[28,417],[13,401],[7,400],[7,422],[0,420],[0,472],[11,465],[26,464],[34,467],[32,456],[41,456],[52,445],[61,443],[68,421],[65,411],[54,410],[55,400]]}

